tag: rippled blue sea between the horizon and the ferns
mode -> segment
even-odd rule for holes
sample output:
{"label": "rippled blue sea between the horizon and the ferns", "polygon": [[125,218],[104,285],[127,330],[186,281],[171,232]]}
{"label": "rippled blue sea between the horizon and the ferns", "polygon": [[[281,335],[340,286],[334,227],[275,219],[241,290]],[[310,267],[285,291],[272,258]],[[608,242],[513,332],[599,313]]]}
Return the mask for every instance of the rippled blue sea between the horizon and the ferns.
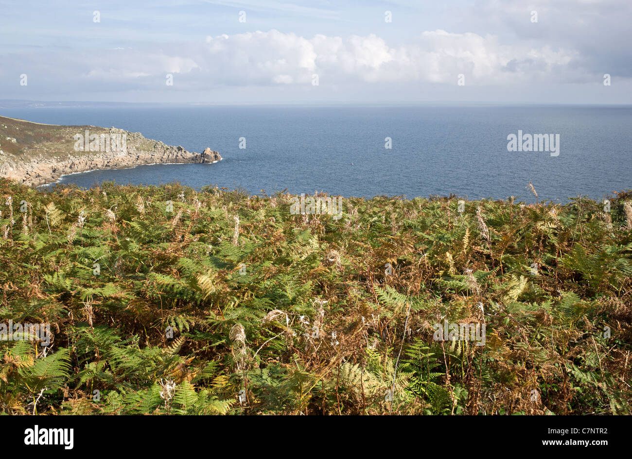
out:
{"label": "rippled blue sea between the horizon and the ferns", "polygon": [[[508,196],[533,201],[602,198],[632,188],[632,107],[499,105],[206,105],[3,109],[49,124],[116,126],[167,145],[224,158],[216,164],[146,165],[64,176],[103,181],[177,181],[258,194],[326,191],[342,196]],[[508,152],[507,135],[559,134],[558,156]],[[386,138],[392,148],[385,148]],[[240,148],[245,138],[246,148]],[[241,142],[243,145],[243,141]]]}

